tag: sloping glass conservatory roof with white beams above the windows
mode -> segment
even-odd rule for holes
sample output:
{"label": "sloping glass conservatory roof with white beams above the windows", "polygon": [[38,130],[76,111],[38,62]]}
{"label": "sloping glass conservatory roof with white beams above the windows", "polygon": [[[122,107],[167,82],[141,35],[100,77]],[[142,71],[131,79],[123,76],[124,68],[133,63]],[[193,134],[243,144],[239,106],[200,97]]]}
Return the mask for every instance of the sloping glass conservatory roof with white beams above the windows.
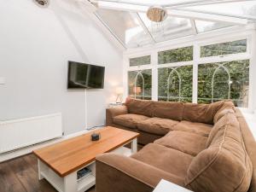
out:
{"label": "sloping glass conservatory roof with white beams above the windows", "polygon": [[[95,15],[125,48],[142,47],[256,21],[256,0],[92,0]],[[148,20],[149,7],[167,10],[166,20]]]}

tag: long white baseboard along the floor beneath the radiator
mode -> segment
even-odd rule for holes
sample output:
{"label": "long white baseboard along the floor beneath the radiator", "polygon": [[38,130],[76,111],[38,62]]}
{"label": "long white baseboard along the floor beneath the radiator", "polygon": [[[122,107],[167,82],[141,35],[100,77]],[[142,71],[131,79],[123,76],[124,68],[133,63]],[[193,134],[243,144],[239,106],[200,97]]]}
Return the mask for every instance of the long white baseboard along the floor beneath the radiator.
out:
{"label": "long white baseboard along the floor beneath the radiator", "polygon": [[[101,127],[96,128],[95,130],[98,130],[98,129],[101,129]],[[95,130],[92,130],[92,131],[95,131]],[[19,157],[19,156],[22,156],[22,155],[25,155],[25,154],[31,154],[33,150],[36,150],[38,148],[44,148],[48,145],[58,143],[58,142],[61,142],[61,141],[65,141],[69,138],[77,137],[77,136],[83,135],[83,134],[88,133],[88,132],[90,132],[90,131],[88,131],[88,130],[79,131],[79,132],[76,132],[76,133],[73,133],[73,134],[70,134],[70,135],[67,135],[67,136],[63,136],[61,138],[50,140],[50,141],[45,142],[45,143],[38,143],[38,144],[29,146],[29,147],[26,147],[26,148],[20,148],[20,149],[17,149],[15,151],[11,151],[9,153],[0,154],[0,162],[6,161],[6,160],[11,160],[11,159],[14,159],[16,157]]]}

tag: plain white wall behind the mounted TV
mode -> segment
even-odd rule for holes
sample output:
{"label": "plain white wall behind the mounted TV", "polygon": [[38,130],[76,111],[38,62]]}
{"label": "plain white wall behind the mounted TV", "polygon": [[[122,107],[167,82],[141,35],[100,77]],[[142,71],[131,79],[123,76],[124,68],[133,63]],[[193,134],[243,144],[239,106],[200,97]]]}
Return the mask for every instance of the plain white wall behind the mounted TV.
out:
{"label": "plain white wall behind the mounted TV", "polygon": [[[47,9],[32,0],[0,3],[0,120],[61,112],[66,135],[82,131],[86,116],[89,127],[104,124],[122,84],[122,53],[68,1]],[[105,66],[105,89],[67,90],[68,60]]]}

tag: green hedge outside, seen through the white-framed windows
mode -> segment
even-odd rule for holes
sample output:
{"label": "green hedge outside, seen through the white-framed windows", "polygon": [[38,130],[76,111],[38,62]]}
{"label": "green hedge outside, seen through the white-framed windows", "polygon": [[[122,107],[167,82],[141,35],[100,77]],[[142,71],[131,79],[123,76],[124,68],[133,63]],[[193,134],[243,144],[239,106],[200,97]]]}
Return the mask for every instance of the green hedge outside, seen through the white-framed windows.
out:
{"label": "green hedge outside, seen through the white-framed windows", "polygon": [[[201,54],[203,53],[204,56],[226,55],[228,53],[245,52],[246,49],[247,40],[240,40],[201,47]],[[219,52],[215,50],[219,50]],[[192,61],[193,47],[162,51],[159,52],[158,57],[159,64],[177,61]],[[141,74],[137,75],[138,73]],[[137,92],[137,94],[135,94],[136,77],[136,86],[137,88],[140,88],[138,89],[140,92]],[[128,82],[129,96],[136,97],[137,99],[151,99],[151,69],[129,72]],[[193,66],[164,67],[158,69],[159,101],[192,102],[192,86]],[[207,63],[198,66],[198,103],[211,103],[223,99],[231,99],[235,102],[236,106],[247,108],[248,89],[249,60]]]}

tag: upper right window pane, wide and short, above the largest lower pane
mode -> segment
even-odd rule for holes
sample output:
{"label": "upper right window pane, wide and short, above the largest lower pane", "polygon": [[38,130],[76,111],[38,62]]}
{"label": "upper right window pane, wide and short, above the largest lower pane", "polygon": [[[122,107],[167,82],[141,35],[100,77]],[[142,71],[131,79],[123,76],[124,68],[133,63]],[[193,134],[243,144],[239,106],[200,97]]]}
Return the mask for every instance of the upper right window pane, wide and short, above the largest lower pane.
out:
{"label": "upper right window pane, wide and short, above the largest lower pane", "polygon": [[247,39],[226,42],[223,44],[211,44],[201,47],[201,57],[215,55],[230,55],[245,53],[247,51]]}

